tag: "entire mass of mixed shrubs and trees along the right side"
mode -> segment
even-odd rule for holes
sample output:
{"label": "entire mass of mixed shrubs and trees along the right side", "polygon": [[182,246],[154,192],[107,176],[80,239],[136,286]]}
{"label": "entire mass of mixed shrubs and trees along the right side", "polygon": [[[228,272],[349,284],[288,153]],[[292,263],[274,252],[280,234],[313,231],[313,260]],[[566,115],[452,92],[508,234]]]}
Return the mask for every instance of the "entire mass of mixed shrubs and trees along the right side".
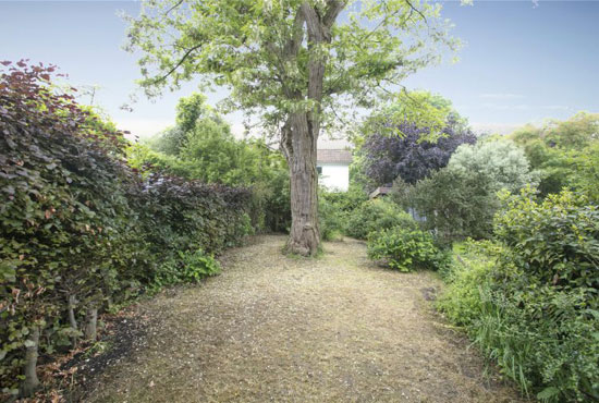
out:
{"label": "entire mass of mixed shrubs and trees along the right side", "polygon": [[[439,268],[439,309],[526,395],[599,400],[598,115],[444,150],[456,139],[413,141],[426,130],[406,121],[357,139],[358,181],[393,190],[356,209],[347,233],[369,234],[368,255],[391,268]],[[403,211],[418,222],[395,227]]]}

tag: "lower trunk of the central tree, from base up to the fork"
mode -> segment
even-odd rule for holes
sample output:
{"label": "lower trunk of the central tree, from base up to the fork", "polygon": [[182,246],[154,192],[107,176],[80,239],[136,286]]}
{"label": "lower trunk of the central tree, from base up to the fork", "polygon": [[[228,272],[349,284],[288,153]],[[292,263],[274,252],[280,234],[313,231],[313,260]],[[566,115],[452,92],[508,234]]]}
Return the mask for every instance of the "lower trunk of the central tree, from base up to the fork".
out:
{"label": "lower trunk of the central tree, from base up to the fork", "polygon": [[307,113],[293,113],[283,127],[281,147],[291,176],[291,232],[286,251],[314,256],[320,244],[318,230],[318,173],[316,142]]}

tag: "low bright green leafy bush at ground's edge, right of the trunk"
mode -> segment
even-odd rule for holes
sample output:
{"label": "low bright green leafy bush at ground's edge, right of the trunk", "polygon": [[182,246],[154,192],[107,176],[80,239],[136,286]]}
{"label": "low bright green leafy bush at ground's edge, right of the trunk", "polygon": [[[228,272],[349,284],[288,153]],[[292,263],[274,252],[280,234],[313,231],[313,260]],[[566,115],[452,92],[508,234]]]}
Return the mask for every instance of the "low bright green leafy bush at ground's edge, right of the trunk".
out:
{"label": "low bright green leafy bush at ground's edge, right of the trunk", "polygon": [[436,270],[445,260],[428,232],[401,227],[370,233],[368,257],[404,272]]}

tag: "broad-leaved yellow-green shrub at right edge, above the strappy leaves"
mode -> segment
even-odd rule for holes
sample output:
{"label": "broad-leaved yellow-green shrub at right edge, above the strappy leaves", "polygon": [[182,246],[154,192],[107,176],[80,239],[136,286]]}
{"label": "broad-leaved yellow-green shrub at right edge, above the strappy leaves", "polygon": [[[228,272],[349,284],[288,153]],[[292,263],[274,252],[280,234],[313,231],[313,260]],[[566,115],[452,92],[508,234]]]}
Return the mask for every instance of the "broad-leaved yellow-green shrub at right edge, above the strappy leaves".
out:
{"label": "broad-leaved yellow-green shrub at right edge, above the strappy leaves", "polygon": [[511,253],[502,265],[521,268],[523,281],[586,290],[588,303],[599,308],[599,208],[567,191],[538,203],[528,188],[504,200],[496,235]]}

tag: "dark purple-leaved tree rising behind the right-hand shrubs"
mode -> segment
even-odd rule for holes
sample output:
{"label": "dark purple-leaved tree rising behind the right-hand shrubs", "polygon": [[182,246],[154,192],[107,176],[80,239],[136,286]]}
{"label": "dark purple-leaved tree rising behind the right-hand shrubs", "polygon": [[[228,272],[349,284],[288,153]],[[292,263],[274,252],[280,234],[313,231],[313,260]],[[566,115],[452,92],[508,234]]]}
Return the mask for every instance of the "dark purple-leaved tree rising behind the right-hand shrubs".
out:
{"label": "dark purple-leaved tree rising behind the right-hand shrubs", "polygon": [[388,134],[384,129],[375,129],[366,134],[360,146],[362,176],[370,187],[392,183],[398,176],[414,184],[445,167],[457,146],[476,142],[474,133],[454,112],[448,114],[436,141],[423,141],[430,127],[412,121],[403,121],[396,129],[400,133]]}

